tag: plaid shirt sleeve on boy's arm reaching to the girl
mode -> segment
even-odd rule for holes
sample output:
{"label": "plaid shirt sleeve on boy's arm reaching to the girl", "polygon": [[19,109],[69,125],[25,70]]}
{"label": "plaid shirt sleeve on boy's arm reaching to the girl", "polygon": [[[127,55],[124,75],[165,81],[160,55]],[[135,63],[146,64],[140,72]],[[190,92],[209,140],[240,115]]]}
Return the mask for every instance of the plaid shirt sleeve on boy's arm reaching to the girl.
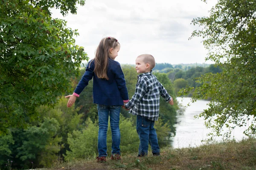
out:
{"label": "plaid shirt sleeve on boy's arm reaching to the girl", "polygon": [[143,81],[138,81],[136,88],[135,88],[135,94],[132,96],[131,100],[128,103],[125,103],[126,109],[133,108],[144,96],[144,94],[148,91],[148,87],[143,83]]}

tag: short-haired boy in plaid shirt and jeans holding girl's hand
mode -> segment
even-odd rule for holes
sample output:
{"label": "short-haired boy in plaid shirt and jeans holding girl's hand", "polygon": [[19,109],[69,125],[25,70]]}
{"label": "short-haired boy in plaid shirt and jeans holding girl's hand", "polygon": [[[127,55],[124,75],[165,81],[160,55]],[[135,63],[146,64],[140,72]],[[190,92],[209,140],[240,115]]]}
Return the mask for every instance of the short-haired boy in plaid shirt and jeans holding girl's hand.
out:
{"label": "short-haired boy in plaid shirt and jeans holding girl's hand", "polygon": [[160,96],[173,105],[172,97],[152,74],[154,66],[155,60],[152,55],[142,54],[137,57],[136,70],[142,74],[138,75],[135,94],[124,104],[125,109],[130,109],[129,113],[137,115],[137,133],[140,138],[138,157],[148,155],[148,142],[153,155],[160,155],[157,133],[154,129],[154,121],[158,120]]}

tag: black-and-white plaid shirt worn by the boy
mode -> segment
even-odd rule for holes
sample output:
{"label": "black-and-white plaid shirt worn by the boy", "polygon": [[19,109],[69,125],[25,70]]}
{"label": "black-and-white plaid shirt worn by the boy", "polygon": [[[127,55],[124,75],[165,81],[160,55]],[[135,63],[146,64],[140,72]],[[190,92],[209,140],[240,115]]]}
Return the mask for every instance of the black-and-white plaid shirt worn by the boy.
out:
{"label": "black-and-white plaid shirt worn by the boy", "polygon": [[133,115],[144,116],[150,120],[158,120],[160,96],[166,102],[172,97],[167,93],[163,85],[157,80],[152,71],[138,75],[135,94],[125,108],[130,109]]}

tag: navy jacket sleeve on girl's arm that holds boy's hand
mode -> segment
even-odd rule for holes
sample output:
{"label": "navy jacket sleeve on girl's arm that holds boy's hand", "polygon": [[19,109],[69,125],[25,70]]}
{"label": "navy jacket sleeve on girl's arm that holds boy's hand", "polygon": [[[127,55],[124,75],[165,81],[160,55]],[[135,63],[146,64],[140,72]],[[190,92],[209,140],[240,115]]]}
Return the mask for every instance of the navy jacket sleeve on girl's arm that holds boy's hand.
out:
{"label": "navy jacket sleeve on girl's arm that holds boy's hand", "polygon": [[120,91],[121,97],[123,100],[127,101],[129,99],[129,96],[128,96],[128,90],[125,82],[125,75],[122,71],[121,65],[118,64],[116,66],[116,69],[114,69],[114,71],[115,71],[114,74],[115,74],[116,84]]}

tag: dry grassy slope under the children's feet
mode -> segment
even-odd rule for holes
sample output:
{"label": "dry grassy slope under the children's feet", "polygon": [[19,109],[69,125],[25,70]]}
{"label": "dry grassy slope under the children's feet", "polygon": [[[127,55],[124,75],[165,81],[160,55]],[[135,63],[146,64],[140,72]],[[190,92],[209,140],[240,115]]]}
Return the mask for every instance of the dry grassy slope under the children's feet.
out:
{"label": "dry grassy slope under the children's feet", "polygon": [[161,156],[138,159],[137,153],[122,161],[95,158],[56,163],[52,170],[256,170],[256,139],[244,139],[181,149],[162,148]]}

